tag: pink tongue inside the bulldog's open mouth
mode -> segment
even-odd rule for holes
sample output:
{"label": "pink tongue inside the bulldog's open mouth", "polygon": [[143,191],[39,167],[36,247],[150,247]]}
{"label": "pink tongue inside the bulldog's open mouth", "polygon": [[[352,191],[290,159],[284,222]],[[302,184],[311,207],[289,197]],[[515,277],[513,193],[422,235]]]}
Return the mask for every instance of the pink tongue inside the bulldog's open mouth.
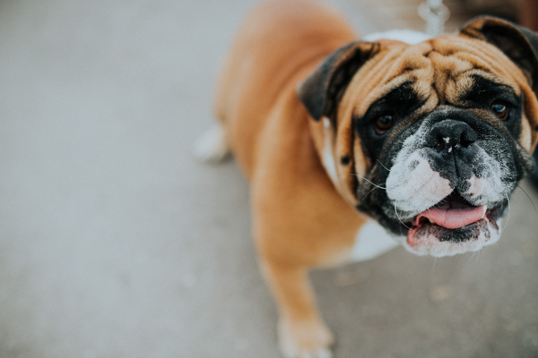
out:
{"label": "pink tongue inside the bulldog's open mouth", "polygon": [[427,217],[438,226],[446,227],[447,229],[456,229],[463,227],[480,220],[484,215],[484,207],[477,208],[454,208],[454,209],[438,209],[430,208],[416,218],[416,223],[420,222],[421,217]]}

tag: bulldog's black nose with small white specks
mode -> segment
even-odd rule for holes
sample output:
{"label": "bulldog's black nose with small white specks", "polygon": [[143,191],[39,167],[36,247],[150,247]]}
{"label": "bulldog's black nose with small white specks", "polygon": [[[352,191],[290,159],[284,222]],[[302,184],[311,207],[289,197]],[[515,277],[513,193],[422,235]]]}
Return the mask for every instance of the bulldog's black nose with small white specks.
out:
{"label": "bulldog's black nose with small white specks", "polygon": [[446,119],[431,127],[427,145],[438,152],[452,152],[454,149],[469,148],[478,139],[469,124],[453,119]]}

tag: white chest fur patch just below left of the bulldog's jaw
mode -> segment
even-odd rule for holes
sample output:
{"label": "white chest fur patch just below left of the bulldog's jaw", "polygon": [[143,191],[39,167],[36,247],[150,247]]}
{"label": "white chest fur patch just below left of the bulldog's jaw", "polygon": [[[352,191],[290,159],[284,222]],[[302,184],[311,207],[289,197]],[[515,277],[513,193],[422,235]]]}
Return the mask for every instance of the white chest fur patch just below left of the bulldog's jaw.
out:
{"label": "white chest fur patch just below left of the bulldog's jaw", "polygon": [[369,220],[357,234],[351,249],[351,259],[355,261],[374,259],[394,249],[400,244],[398,241],[397,237],[388,234],[376,221]]}

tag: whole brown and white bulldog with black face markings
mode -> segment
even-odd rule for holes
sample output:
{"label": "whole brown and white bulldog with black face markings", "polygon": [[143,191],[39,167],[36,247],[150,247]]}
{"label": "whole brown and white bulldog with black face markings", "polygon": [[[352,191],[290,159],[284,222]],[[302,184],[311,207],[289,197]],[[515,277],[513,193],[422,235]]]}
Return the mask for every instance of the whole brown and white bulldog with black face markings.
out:
{"label": "whole brown and white bulldog with black face markings", "polygon": [[494,18],[411,45],[357,40],[312,0],[248,16],[201,155],[231,149],[251,183],[286,357],[330,356],[309,268],[395,243],[445,256],[499,240],[509,196],[534,168],[537,51],[536,33]]}

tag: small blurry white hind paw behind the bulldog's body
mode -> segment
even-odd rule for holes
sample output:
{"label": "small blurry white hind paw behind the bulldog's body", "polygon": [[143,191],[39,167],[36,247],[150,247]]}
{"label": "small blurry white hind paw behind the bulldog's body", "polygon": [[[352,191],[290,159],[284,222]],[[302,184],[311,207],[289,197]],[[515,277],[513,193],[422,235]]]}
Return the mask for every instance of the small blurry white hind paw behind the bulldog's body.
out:
{"label": "small blurry white hind paw behind the bulldog's body", "polygon": [[230,154],[230,144],[221,124],[213,126],[195,141],[195,158],[206,163],[218,163]]}

